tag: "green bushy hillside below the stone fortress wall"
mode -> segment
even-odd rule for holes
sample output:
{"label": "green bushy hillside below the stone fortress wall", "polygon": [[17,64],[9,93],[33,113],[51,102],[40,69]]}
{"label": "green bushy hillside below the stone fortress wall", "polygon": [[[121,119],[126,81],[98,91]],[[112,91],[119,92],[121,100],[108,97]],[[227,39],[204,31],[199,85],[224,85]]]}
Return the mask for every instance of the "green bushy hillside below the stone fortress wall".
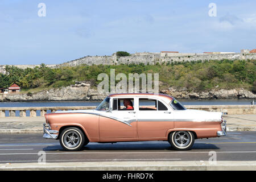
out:
{"label": "green bushy hillside below the stone fortress wall", "polygon": [[[156,63],[155,65],[79,65],[51,69],[45,64],[31,69],[7,67],[7,75],[0,74],[0,88],[6,88],[14,82],[23,90],[35,90],[68,86],[75,81],[89,81],[97,86],[97,76],[107,73],[110,69],[118,73],[159,73],[161,88],[170,86],[186,87],[189,90],[207,91],[213,88],[234,89],[244,88],[256,92],[256,60],[219,60],[193,61],[179,63]],[[217,86],[218,85],[218,86]]]}

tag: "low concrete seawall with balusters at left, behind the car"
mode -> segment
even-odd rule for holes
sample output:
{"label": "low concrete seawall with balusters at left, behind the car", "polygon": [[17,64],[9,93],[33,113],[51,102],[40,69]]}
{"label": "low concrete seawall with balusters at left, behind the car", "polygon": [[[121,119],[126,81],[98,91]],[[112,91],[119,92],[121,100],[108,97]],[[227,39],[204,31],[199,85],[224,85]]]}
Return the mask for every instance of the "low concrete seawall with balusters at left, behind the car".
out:
{"label": "low concrete seawall with balusters at left, behind the car", "polygon": [[[185,105],[187,109],[218,111],[228,114],[256,114],[256,105]],[[56,110],[95,109],[96,106],[60,106],[60,107],[0,107],[0,117],[44,117],[44,114]],[[29,114],[26,114],[29,113]],[[40,114],[37,114],[40,113]]]}

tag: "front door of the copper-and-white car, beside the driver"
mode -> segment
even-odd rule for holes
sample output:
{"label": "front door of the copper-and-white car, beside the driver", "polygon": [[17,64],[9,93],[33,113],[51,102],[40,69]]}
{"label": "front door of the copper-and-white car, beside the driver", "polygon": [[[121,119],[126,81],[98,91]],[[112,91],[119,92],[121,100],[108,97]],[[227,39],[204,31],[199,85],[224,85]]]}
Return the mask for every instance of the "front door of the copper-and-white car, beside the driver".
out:
{"label": "front door of the copper-and-white car, beside the driver", "polygon": [[111,111],[107,112],[105,117],[100,116],[101,142],[137,140],[137,113],[134,109],[126,110],[122,105],[123,99],[113,98]]}

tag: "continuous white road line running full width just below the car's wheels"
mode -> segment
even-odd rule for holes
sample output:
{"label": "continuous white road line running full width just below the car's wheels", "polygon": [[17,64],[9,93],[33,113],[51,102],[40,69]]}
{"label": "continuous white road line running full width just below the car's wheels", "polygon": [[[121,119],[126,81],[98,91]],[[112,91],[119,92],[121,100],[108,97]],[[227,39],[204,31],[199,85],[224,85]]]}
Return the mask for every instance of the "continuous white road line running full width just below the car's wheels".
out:
{"label": "continuous white road line running full width just below the car's wheels", "polygon": [[[46,154],[198,154],[207,152],[46,152]],[[256,151],[223,151],[216,153],[256,153]],[[5,153],[0,155],[38,155],[38,153]]]}

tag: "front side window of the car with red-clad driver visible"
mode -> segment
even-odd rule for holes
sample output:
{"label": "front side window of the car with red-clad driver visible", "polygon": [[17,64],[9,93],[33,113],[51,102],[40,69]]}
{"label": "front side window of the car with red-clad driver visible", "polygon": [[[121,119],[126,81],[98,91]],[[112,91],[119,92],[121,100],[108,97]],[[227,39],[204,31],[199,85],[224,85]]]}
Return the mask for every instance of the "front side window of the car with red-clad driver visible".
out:
{"label": "front side window of the car with red-clad driver visible", "polygon": [[133,98],[114,98],[112,110],[134,110]]}

